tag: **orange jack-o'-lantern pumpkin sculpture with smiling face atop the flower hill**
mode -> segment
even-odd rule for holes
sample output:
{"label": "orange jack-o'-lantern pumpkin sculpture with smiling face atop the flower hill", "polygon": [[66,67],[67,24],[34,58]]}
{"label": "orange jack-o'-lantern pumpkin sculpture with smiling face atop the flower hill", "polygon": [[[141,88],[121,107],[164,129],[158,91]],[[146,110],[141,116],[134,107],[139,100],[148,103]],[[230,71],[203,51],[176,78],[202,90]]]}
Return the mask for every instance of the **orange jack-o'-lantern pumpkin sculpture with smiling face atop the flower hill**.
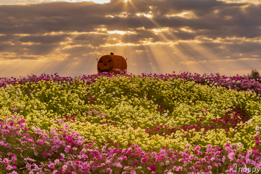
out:
{"label": "orange jack-o'-lantern pumpkin sculpture with smiling face atop the flower hill", "polygon": [[108,74],[119,74],[120,71],[116,69],[120,69],[121,71],[124,71],[124,69],[127,70],[127,59],[125,60],[122,56],[114,55],[112,52],[110,54],[111,55],[104,55],[99,59],[97,63],[98,73],[107,72]]}

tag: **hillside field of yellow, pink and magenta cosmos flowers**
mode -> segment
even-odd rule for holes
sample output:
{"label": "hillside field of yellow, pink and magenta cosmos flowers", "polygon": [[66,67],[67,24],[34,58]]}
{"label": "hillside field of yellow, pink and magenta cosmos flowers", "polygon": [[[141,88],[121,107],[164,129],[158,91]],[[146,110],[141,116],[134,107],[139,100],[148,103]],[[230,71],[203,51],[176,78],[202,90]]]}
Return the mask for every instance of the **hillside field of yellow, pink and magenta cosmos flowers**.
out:
{"label": "hillside field of yellow, pink and magenta cosmos flowers", "polygon": [[258,79],[56,73],[0,87],[2,173],[261,172]]}

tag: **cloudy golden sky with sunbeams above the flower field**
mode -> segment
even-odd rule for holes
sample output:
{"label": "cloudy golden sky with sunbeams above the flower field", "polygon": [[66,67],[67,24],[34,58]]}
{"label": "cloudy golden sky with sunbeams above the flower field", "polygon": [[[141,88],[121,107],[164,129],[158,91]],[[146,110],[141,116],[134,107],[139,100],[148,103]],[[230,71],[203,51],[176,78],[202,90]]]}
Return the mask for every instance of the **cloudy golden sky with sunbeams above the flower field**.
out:
{"label": "cloudy golden sky with sunbeams above the flower field", "polygon": [[261,73],[261,0],[0,0],[0,77]]}

